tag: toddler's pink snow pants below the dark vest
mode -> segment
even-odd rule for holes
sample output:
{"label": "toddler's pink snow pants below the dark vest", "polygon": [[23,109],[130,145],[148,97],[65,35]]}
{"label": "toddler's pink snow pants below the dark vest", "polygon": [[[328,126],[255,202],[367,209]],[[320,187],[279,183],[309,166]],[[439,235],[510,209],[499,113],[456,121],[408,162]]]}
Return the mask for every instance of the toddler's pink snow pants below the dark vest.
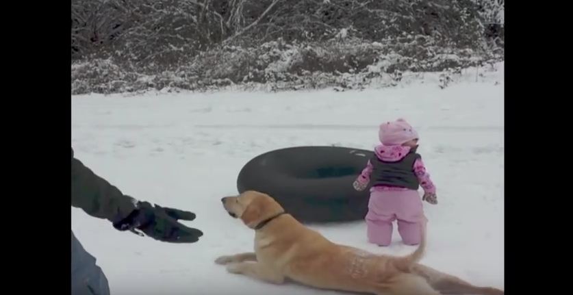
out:
{"label": "toddler's pink snow pants below the dark vest", "polygon": [[404,244],[420,244],[423,215],[422,200],[416,190],[371,192],[365,218],[368,241],[379,246],[390,245],[392,222],[397,219]]}

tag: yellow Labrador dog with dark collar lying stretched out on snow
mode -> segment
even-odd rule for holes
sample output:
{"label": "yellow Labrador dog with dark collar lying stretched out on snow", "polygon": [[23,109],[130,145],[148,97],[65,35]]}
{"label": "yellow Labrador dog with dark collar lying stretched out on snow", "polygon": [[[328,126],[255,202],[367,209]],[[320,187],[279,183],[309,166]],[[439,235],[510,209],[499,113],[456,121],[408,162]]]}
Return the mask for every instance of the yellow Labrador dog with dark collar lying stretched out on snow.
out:
{"label": "yellow Labrador dog with dark collar lying stretched out on snow", "polygon": [[255,230],[254,253],[216,259],[232,273],[276,284],[291,279],[321,289],[377,295],[504,294],[418,264],[426,245],[425,222],[422,242],[410,255],[374,255],[330,242],[266,194],[249,191],[221,201],[231,216]]}

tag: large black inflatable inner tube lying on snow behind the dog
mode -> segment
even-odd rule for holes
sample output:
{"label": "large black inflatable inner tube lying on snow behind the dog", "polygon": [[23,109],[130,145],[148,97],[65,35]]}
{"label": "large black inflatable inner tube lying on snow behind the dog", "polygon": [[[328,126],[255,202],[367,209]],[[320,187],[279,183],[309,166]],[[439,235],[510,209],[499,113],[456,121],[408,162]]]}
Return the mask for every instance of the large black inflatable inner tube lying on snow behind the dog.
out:
{"label": "large black inflatable inner tube lying on snow behind the dog", "polygon": [[302,222],[361,220],[368,211],[368,189],[352,183],[372,151],[337,146],[298,146],[259,155],[239,173],[239,192],[273,196]]}

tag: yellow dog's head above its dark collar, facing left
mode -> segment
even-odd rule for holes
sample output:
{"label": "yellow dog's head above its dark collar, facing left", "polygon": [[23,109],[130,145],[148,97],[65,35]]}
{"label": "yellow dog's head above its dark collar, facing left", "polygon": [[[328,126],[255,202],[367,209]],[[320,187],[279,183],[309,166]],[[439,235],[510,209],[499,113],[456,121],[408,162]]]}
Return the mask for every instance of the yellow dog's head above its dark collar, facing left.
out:
{"label": "yellow dog's head above its dark collar, facing left", "polygon": [[284,211],[274,198],[253,190],[243,192],[238,196],[225,196],[221,198],[221,201],[230,216],[240,218],[251,229],[267,218]]}

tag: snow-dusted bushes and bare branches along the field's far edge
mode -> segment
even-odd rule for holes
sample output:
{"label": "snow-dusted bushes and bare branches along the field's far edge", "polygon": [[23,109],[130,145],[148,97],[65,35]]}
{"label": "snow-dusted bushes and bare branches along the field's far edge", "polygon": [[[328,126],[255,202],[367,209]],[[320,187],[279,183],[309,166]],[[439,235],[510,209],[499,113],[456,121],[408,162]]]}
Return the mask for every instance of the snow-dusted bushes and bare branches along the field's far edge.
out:
{"label": "snow-dusted bushes and bare branches along the field's far edge", "polygon": [[395,85],[503,58],[503,0],[73,0],[73,93]]}

